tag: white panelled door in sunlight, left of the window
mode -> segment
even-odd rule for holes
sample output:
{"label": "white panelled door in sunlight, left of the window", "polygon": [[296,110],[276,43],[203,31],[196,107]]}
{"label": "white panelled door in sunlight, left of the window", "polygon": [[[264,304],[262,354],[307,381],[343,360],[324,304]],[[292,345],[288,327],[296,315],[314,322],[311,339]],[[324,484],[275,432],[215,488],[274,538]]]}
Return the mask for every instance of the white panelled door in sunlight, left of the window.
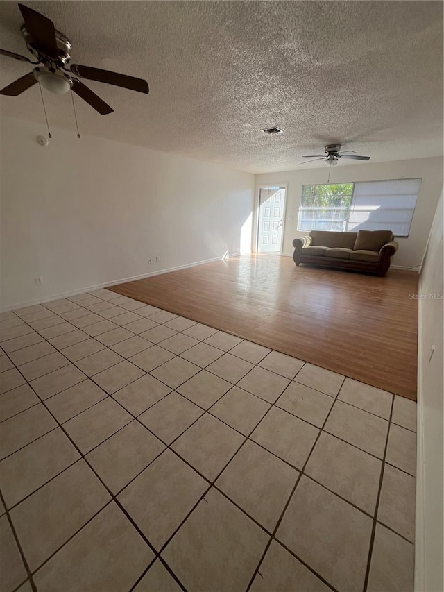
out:
{"label": "white panelled door in sunlight, left of the window", "polygon": [[259,224],[257,251],[280,253],[284,228],[285,188],[261,187],[259,189]]}

